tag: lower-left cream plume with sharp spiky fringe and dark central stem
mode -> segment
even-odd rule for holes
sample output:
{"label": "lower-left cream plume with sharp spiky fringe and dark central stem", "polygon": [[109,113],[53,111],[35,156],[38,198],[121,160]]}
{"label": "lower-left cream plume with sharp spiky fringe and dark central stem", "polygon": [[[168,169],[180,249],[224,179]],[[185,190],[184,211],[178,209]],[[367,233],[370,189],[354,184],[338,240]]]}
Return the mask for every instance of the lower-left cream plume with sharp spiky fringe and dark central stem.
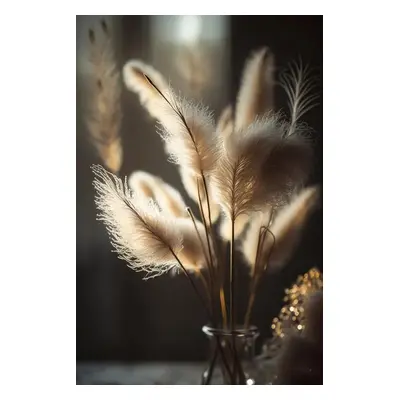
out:
{"label": "lower-left cream plume with sharp spiky fringe and dark central stem", "polygon": [[[154,202],[134,195],[127,182],[101,166],[92,167],[95,203],[119,258],[147,278],[177,265],[174,254],[182,250],[182,235],[173,218],[165,217]],[[149,251],[151,249],[151,251]]]}

